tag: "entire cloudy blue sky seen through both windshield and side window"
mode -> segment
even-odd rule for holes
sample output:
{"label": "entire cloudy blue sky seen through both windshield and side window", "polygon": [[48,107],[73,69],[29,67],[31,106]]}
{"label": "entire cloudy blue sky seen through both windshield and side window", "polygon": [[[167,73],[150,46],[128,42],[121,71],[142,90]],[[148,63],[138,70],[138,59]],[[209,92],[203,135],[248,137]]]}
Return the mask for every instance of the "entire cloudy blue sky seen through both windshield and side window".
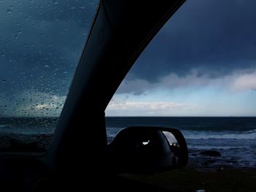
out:
{"label": "entire cloudy blue sky seen through both windshield and side window", "polygon": [[[60,115],[97,4],[0,0],[0,117]],[[187,0],[106,115],[255,116],[255,8],[254,0]]]}

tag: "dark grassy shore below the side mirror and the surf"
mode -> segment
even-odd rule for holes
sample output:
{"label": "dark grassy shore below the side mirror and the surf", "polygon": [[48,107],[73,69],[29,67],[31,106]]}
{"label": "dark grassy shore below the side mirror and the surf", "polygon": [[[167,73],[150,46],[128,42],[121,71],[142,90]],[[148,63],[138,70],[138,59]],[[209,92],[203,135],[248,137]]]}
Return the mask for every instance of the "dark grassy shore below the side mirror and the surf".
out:
{"label": "dark grassy shore below the side mirror and the surf", "polygon": [[256,191],[256,169],[222,169],[205,171],[191,164],[182,169],[157,174],[123,174],[171,191]]}

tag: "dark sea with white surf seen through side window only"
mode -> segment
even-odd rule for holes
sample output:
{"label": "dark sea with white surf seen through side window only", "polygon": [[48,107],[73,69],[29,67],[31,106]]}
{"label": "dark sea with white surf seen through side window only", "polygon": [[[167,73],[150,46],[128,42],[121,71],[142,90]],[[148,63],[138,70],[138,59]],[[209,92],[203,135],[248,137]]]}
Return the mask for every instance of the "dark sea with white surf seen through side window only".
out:
{"label": "dark sea with white surf seen through side window only", "polygon": [[[177,128],[184,134],[189,164],[200,169],[256,168],[256,118],[108,117],[108,142],[128,126]],[[203,155],[214,150],[220,156]]]}

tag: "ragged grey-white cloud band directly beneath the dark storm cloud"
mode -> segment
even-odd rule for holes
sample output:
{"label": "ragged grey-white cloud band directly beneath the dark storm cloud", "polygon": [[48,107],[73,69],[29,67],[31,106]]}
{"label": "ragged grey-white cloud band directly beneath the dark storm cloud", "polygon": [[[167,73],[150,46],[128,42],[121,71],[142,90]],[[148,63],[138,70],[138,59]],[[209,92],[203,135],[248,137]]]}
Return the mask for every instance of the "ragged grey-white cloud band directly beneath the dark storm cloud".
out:
{"label": "ragged grey-white cloud band directly beneath the dark storm cloud", "polygon": [[211,78],[208,74],[200,74],[200,69],[192,69],[186,76],[170,73],[157,82],[140,79],[125,79],[116,93],[132,93],[141,95],[148,91],[172,91],[176,88],[219,88],[230,92],[250,91],[256,88],[256,69],[244,69],[233,74]]}

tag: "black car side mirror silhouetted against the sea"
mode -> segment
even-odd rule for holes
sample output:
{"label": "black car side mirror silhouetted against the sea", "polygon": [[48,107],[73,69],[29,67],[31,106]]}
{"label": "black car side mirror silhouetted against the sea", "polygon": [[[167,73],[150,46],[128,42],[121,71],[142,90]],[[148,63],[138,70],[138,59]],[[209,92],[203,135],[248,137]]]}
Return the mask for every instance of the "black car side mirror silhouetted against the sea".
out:
{"label": "black car side mirror silhouetted against the sea", "polygon": [[187,143],[176,128],[128,127],[108,145],[110,169],[116,173],[147,174],[184,167]]}

